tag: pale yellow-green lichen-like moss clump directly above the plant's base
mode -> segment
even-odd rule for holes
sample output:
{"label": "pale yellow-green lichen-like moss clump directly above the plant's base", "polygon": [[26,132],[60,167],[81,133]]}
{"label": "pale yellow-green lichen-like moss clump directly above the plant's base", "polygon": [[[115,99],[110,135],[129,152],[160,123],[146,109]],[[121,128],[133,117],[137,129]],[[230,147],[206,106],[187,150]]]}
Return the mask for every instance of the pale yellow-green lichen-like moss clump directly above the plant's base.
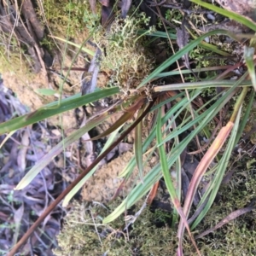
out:
{"label": "pale yellow-green lichen-like moss clump directly above the plant's base", "polygon": [[115,19],[110,31],[101,40],[107,54],[102,56],[101,67],[111,73],[111,84],[122,90],[135,89],[154,68],[154,58],[143,46],[143,36],[153,32],[151,27],[143,35],[139,29],[148,26],[145,14]]}

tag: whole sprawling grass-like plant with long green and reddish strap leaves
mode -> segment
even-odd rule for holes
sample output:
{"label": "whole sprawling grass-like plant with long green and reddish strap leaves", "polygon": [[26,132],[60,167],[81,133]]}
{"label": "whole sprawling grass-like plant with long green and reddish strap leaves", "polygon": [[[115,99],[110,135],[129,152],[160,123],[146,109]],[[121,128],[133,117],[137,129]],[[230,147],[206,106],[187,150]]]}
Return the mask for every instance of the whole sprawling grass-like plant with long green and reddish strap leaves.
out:
{"label": "whole sprawling grass-like plant with long green and reddish strap leaves", "polygon": [[[253,29],[256,32],[256,26],[252,20],[248,20],[239,15],[232,14],[228,11],[218,9],[208,3],[202,3],[201,1],[194,0],[193,2],[201,4],[208,9],[212,9],[226,15],[234,20],[239,19],[241,23]],[[127,24],[127,23],[126,23]],[[128,25],[127,25],[128,26]],[[117,28],[116,28],[117,29]],[[125,30],[121,30],[123,33]],[[67,148],[70,144],[75,142],[82,137],[82,135],[95,128],[97,125],[102,124],[105,120],[109,119],[110,115],[117,115],[122,113],[119,120],[113,124],[107,131],[104,131],[101,137],[106,137],[111,134],[108,139],[108,143],[102,149],[102,154],[82,172],[79,177],[50,205],[50,207],[44,212],[44,214],[38,218],[35,224],[32,225],[30,230],[27,231],[26,235],[16,244],[9,255],[14,255],[18,247],[22,245],[24,241],[30,236],[32,230],[34,230],[38,224],[45,218],[51,210],[57,206],[62,199],[63,204],[67,205],[67,202],[73,197],[73,195],[81,188],[86,180],[96,171],[96,166],[102,160],[102,158],[108,154],[108,152],[114,148],[119,142],[122,141],[133,129],[135,129],[135,142],[134,142],[134,157],[130,160],[129,164],[125,167],[125,170],[121,173],[122,177],[129,177],[135,166],[138,166],[140,183],[131,189],[131,193],[122,201],[107,218],[103,220],[104,224],[107,224],[114,219],[118,218],[127,208],[133,206],[137,201],[143,198],[144,195],[157,183],[161,177],[164,177],[166,187],[170,193],[173,203],[173,225],[178,225],[178,239],[179,246],[177,249],[178,255],[183,255],[183,233],[185,228],[189,231],[189,236],[193,241],[195,247],[195,241],[190,233],[190,230],[194,230],[198,224],[201,223],[202,218],[206,216],[207,212],[212,206],[212,202],[217,195],[218,188],[224,177],[225,170],[229,164],[230,155],[233,148],[241,137],[241,132],[246,124],[248,114],[252,108],[254,91],[251,90],[255,85],[254,75],[254,61],[252,55],[252,48],[245,49],[245,60],[247,62],[248,72],[244,73],[240,79],[234,80],[204,80],[194,83],[181,83],[181,84],[158,84],[158,79],[166,76],[172,76],[172,72],[163,73],[167,67],[170,67],[173,63],[182,58],[183,55],[189,53],[190,50],[195,49],[198,45],[206,46],[204,38],[210,37],[216,34],[223,34],[232,38],[237,36],[224,30],[216,30],[207,32],[201,37],[195,38],[183,49],[178,50],[170,58],[164,61],[159,67],[156,67],[151,73],[146,76],[139,70],[139,67],[122,67],[118,69],[119,63],[113,67],[113,78],[114,75],[117,86],[105,87],[92,92],[88,95],[76,95],[71,96],[65,100],[59,102],[52,102],[37,111],[28,113],[24,116],[12,119],[6,123],[0,125],[0,134],[9,133],[20,129],[26,125],[31,125],[42,119],[47,119],[55,114],[61,114],[67,110],[73,108],[79,108],[85,104],[96,102],[102,98],[113,96],[119,99],[118,104],[113,107],[107,108],[103,113],[96,114],[89,119],[83,127],[79,128],[78,131],[73,132],[72,135],[63,139],[61,143],[52,148],[48,154],[38,161],[37,166],[33,166],[32,169],[26,173],[26,176],[20,181],[16,189],[23,189],[32,179],[38,175],[44,166],[47,166],[56,155],[60,154],[64,148]],[[176,38],[174,32],[151,32],[150,37],[154,38]],[[137,37],[140,37],[137,35]],[[113,38],[112,38],[113,39]],[[114,41],[114,39],[113,39]],[[125,47],[124,38],[115,38],[113,44],[117,47]],[[136,46],[135,44],[134,46]],[[83,45],[80,47],[82,49]],[[209,49],[209,45],[206,46]],[[210,49],[214,47],[210,46]],[[219,53],[219,49],[218,50]],[[129,59],[129,58],[128,58]],[[138,55],[137,61],[142,61],[143,56]],[[140,62],[141,63],[141,62]],[[136,65],[137,63],[133,63]],[[144,65],[145,63],[140,65]],[[105,63],[106,65],[106,63]],[[151,67],[150,67],[151,68]],[[150,70],[148,68],[148,70]],[[132,79],[129,80],[129,75],[125,73],[133,73]],[[179,71],[179,73],[189,73],[188,70]],[[251,76],[252,80],[249,79]],[[114,80],[114,79],[113,79]],[[130,83],[130,84],[129,84]],[[212,99],[200,107],[195,107],[193,101],[197,96],[200,96],[205,89],[224,87],[224,93],[216,94],[212,96]],[[124,94],[125,88],[125,94]],[[248,91],[251,91],[247,96]],[[238,93],[239,92],[239,93]],[[237,96],[238,95],[238,96]],[[242,110],[242,104],[245,97],[249,103],[247,109]],[[189,185],[189,191],[185,199],[182,199],[182,165],[181,165],[181,154],[188,148],[189,143],[195,139],[199,134],[204,134],[208,139],[211,137],[211,123],[212,120],[218,115],[218,113],[224,108],[224,106],[230,102],[231,99],[236,99],[236,103],[233,108],[233,113],[230,115],[229,120],[226,121],[219,131],[218,135],[213,140],[211,146],[204,152],[204,156],[201,159],[199,166],[195,170],[195,174]],[[167,112],[165,106],[168,104],[172,106]],[[154,113],[155,122],[148,134],[143,135],[143,119],[148,113]],[[120,130],[121,127],[128,121],[128,125],[124,130]],[[180,141],[179,136],[187,132],[187,136]],[[166,143],[172,142],[172,147],[166,152]],[[221,148],[225,148],[222,154],[219,154]],[[160,161],[157,163],[150,172],[145,176],[143,175],[143,154],[156,152],[160,156]],[[148,155],[147,155],[148,156]],[[218,156],[218,157],[217,157]],[[150,154],[148,156],[150,158]],[[214,166],[214,175],[210,181],[207,191],[202,196],[197,209],[198,215],[192,223],[188,222],[189,213],[191,212],[191,205],[195,196],[195,192],[198,188],[201,178],[209,170],[209,166],[212,160],[217,160],[216,166]],[[170,168],[175,166],[176,174],[175,180],[171,177]],[[203,206],[203,207],[201,207]],[[197,249],[197,253],[200,254]]]}

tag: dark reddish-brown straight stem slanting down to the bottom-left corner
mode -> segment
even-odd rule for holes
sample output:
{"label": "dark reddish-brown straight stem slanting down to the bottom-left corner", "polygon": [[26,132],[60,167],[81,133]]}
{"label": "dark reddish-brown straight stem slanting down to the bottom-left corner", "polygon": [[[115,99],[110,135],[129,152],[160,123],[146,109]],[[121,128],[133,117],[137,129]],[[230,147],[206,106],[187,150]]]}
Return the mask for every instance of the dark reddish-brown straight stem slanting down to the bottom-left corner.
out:
{"label": "dark reddish-brown straight stem slanting down to the bottom-left corner", "polygon": [[13,247],[9,254],[7,256],[14,256],[15,253],[17,253],[18,249],[26,242],[26,240],[32,235],[32,232],[38,227],[39,224],[46,218],[49,213],[61,202],[61,200],[80,182],[80,180],[88,173],[92,168],[94,168],[113,148],[115,148],[135,127],[136,125],[143,120],[143,118],[146,116],[146,114],[149,112],[150,108],[153,107],[154,102],[156,99],[154,99],[152,102],[149,102],[148,108],[145,109],[143,114],[125,131],[120,137],[117,139],[116,142],[114,142],[109,148],[99,155],[99,157],[90,165],[88,166],[84,172],[82,172],[79,177],[77,177],[73,183],[71,183],[67,189],[65,189],[61,195],[59,195],[56,200],[49,205],[49,207],[44,211],[44,213],[37,219],[37,221],[32,224],[32,226],[29,228],[29,230],[26,231],[26,234],[21,237],[20,241],[18,241]]}

